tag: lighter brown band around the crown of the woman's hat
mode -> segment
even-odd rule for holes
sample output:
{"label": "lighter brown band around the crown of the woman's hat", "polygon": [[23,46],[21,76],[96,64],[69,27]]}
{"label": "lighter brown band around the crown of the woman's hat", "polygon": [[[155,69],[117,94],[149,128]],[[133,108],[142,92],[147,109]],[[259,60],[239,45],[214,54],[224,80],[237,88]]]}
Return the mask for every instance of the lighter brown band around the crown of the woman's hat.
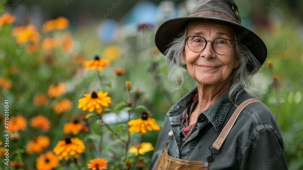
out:
{"label": "lighter brown band around the crown of the woman's hat", "polygon": [[[213,10],[198,11],[198,12],[191,13],[189,16],[200,16],[200,17],[225,19],[225,20],[228,20],[228,21],[231,21],[231,22],[241,24],[238,21],[236,21],[235,19],[226,15],[225,13],[218,12],[218,11],[213,11]],[[206,20],[206,22],[207,22],[207,20]]]}

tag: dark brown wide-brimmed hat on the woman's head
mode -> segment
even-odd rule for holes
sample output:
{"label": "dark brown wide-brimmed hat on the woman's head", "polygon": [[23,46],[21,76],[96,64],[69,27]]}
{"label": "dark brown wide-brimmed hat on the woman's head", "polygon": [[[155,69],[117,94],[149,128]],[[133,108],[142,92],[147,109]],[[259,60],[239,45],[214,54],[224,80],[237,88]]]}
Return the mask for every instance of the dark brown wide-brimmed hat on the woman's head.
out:
{"label": "dark brown wide-brimmed hat on the woman's head", "polygon": [[[248,47],[261,65],[267,57],[267,48],[263,40],[253,31],[242,25],[239,10],[233,0],[200,0],[186,17],[178,17],[163,22],[155,35],[155,43],[161,53],[165,53],[171,40],[185,29],[190,20],[203,22],[215,21],[231,25],[236,32],[236,41]],[[249,70],[253,70],[248,66]]]}

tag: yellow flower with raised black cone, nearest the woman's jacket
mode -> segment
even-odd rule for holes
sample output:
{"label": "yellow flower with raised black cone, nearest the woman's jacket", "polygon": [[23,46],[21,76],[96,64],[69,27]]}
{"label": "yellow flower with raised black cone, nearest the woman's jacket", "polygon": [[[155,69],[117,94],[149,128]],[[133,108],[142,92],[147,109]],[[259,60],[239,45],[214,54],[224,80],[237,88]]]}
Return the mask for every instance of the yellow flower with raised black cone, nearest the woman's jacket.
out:
{"label": "yellow flower with raised black cone, nearest the woman's jacket", "polygon": [[147,130],[149,131],[159,131],[160,127],[157,125],[157,122],[153,118],[149,118],[146,112],[142,113],[142,118],[131,120],[128,122],[129,133],[136,131],[137,133],[141,133],[145,135]]}

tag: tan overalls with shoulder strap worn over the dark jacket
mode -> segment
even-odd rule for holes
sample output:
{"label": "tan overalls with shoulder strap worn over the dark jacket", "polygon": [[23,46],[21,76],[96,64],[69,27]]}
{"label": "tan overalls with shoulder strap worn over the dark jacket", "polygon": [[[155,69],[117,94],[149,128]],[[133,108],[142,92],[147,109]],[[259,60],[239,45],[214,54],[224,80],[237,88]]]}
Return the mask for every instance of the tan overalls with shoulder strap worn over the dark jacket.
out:
{"label": "tan overalls with shoulder strap worn over the dark jacket", "polygon": [[[235,110],[234,114],[231,116],[231,118],[228,120],[227,124],[221,131],[219,137],[212,145],[213,148],[220,151],[220,148],[225,141],[229,131],[231,130],[232,126],[235,124],[235,121],[237,120],[239,114],[241,111],[248,105],[253,102],[259,102],[257,99],[248,99],[245,100],[243,103],[240,104],[240,106]],[[156,170],[175,170],[175,169],[182,169],[182,170],[208,170],[209,168],[209,162],[213,161],[213,154],[207,157],[207,161],[186,161],[182,159],[173,158],[168,155],[168,149],[165,148],[162,154],[160,155],[158,159],[158,163],[156,166]]]}

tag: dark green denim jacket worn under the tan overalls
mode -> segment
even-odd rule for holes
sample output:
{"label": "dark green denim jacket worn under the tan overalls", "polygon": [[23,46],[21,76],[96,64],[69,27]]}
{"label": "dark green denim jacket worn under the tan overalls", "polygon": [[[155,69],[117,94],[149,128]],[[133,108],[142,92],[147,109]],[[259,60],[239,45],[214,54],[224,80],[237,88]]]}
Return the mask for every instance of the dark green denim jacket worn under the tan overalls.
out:
{"label": "dark green denim jacket worn under the tan overalls", "polygon": [[[199,114],[198,130],[182,144],[180,139],[183,113],[197,88],[181,98],[168,111],[158,137],[149,169],[155,169],[158,158],[168,142],[168,132],[173,137],[168,143],[168,155],[188,161],[207,161],[209,146],[218,138],[236,107],[228,100],[229,90],[211,107]],[[255,98],[244,91],[237,105]],[[212,148],[212,147],[210,147]],[[215,149],[212,148],[214,152]],[[209,170],[287,170],[281,132],[271,111],[262,103],[252,103],[243,109],[223,143],[220,153],[213,154]]]}

